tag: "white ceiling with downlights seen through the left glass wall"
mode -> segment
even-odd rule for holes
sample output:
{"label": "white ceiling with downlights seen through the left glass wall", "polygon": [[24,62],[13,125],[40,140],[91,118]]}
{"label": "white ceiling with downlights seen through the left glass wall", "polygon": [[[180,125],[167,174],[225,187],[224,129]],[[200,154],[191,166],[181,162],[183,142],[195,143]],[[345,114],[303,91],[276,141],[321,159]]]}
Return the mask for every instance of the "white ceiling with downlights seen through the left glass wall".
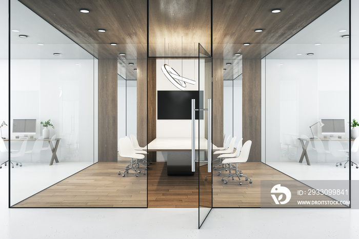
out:
{"label": "white ceiling with downlights seen through the left glass wall", "polygon": [[[6,2],[5,0],[0,0]],[[59,32],[23,4],[11,0],[12,59],[92,59],[93,56]],[[5,9],[5,8],[4,8]],[[7,29],[7,26],[6,26]],[[19,34],[28,35],[20,38]],[[44,44],[39,46],[37,44]],[[53,53],[61,53],[54,56]]]}

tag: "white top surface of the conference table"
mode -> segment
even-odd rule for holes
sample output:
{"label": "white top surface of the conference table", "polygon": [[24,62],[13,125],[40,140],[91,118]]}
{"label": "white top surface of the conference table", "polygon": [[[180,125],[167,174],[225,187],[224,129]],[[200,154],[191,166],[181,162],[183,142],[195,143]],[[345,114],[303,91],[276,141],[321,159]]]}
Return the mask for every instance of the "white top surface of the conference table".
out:
{"label": "white top surface of the conference table", "polygon": [[[198,150],[198,138],[195,139]],[[201,150],[207,150],[206,138],[200,139]],[[217,147],[213,145],[213,150]],[[155,138],[148,144],[148,151],[191,151],[191,138]]]}

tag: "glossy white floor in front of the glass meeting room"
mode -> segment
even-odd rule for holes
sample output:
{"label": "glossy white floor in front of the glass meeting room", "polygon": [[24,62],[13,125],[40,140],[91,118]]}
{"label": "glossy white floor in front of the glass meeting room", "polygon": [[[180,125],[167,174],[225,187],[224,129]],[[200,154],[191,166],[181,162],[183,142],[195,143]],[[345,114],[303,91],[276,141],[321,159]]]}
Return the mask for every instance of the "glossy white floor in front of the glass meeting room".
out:
{"label": "glossy white floor in front of the glass meeting room", "polygon": [[8,208],[0,171],[0,238],[358,238],[355,209],[212,209],[200,230],[197,209]]}

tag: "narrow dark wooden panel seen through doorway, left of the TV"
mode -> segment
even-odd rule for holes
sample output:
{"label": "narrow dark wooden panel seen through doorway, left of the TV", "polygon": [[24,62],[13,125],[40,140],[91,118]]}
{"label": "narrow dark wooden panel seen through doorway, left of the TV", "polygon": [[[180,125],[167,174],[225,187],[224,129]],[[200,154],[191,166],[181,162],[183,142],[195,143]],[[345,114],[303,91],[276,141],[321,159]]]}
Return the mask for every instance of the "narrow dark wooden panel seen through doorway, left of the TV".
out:
{"label": "narrow dark wooden panel seen through doorway, left of the TV", "polygon": [[[156,58],[148,58],[148,143],[156,138]],[[152,162],[156,162],[156,152],[148,152],[148,159]]]}

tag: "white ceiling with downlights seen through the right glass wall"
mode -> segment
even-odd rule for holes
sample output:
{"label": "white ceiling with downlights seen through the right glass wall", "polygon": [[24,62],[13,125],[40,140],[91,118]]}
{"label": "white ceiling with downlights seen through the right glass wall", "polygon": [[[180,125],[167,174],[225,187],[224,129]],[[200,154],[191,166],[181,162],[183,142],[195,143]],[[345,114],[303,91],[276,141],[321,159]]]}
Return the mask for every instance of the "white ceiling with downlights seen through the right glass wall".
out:
{"label": "white ceiling with downlights seen through the right glass wall", "polygon": [[[356,2],[356,5],[358,1]],[[353,6],[352,6],[353,7]],[[357,6],[359,9],[359,5]],[[356,19],[357,17],[354,16]],[[352,19],[352,23],[355,20]],[[355,26],[355,24],[352,24]],[[359,25],[356,26],[359,28]],[[347,30],[346,32],[339,32]],[[275,49],[267,59],[348,59],[349,0],[343,0]],[[355,29],[352,29],[355,32]],[[315,46],[314,44],[321,44]],[[308,56],[307,53],[314,53]],[[358,56],[358,51],[353,56]],[[297,55],[302,54],[302,55]]]}

